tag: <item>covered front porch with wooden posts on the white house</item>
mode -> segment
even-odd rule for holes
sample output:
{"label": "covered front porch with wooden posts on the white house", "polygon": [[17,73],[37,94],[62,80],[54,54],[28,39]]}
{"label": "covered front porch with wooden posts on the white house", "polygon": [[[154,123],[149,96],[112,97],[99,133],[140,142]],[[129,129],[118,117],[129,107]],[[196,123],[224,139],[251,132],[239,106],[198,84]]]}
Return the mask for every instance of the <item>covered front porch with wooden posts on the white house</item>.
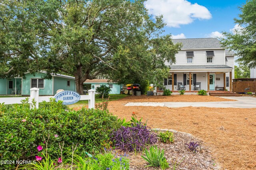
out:
{"label": "covered front porch with wooden posts on the white house", "polygon": [[[186,66],[188,67],[188,66]],[[168,78],[164,79],[164,86],[172,91],[186,90],[197,92],[228,91],[232,92],[232,67],[221,65],[214,68],[204,69],[170,69]],[[158,88],[158,91],[161,90]]]}

